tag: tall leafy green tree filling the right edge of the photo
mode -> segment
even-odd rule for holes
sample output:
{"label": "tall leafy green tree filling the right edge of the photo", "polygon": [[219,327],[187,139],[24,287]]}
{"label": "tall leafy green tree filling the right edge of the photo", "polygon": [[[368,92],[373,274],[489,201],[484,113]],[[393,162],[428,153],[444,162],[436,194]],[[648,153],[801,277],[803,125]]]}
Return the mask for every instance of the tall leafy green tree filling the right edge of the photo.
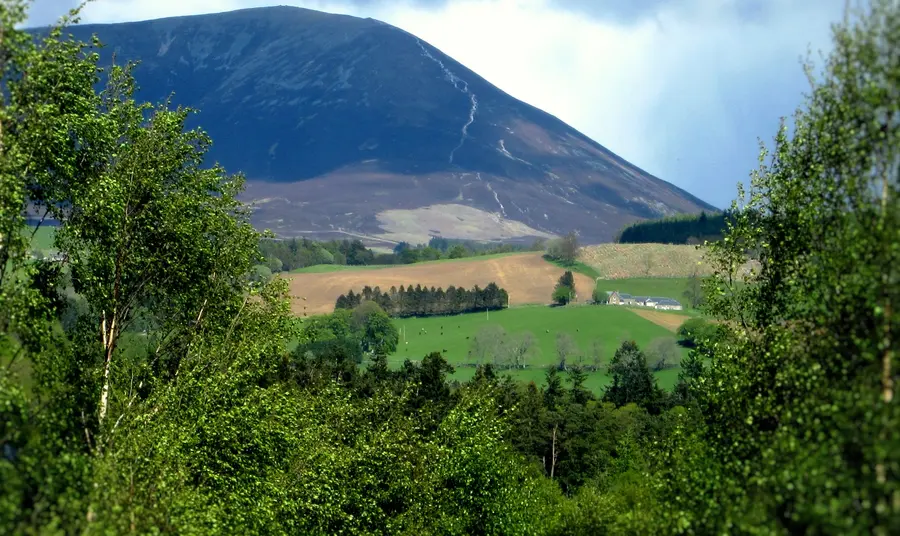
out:
{"label": "tall leafy green tree filling the right edge of the photo", "polygon": [[[706,295],[735,333],[690,382],[705,430],[666,459],[684,481],[677,494],[660,481],[663,525],[900,531],[897,50],[896,1],[848,13],[792,135],[763,152],[713,246]],[[760,267],[739,287],[748,251]]]}

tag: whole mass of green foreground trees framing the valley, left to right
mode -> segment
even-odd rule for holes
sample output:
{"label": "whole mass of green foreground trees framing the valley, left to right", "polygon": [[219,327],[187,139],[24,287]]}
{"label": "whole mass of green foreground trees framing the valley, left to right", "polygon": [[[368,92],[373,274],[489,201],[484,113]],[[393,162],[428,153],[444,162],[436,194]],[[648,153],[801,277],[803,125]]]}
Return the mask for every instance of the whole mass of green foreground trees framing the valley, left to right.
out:
{"label": "whole mass of green foreground trees framing the valley, left to right", "polygon": [[[189,112],[61,29],[32,39],[24,8],[0,2],[0,532],[900,531],[896,1],[835,28],[763,153],[673,392],[669,350],[624,338],[599,399],[565,333],[542,388],[487,359],[453,384],[441,353],[387,366],[375,299],[292,317]],[[32,204],[60,262],[28,255]]]}

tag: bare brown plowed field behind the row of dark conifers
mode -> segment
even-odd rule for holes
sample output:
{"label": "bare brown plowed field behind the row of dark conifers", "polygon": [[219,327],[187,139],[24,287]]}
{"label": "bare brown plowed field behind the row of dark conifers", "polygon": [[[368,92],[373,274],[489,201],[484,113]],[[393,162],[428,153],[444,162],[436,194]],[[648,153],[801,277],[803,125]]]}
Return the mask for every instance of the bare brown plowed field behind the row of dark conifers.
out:
{"label": "bare brown plowed field behind the row of dark conifers", "polygon": [[[471,259],[428,262],[378,268],[312,274],[289,274],[294,313],[321,314],[334,311],[338,296],[353,289],[359,292],[366,285],[379,286],[388,291],[392,286],[422,285],[443,287],[450,285],[484,288],[494,282],[509,293],[510,305],[550,303],[553,287],[563,270],[541,258],[540,253],[523,253],[490,259]],[[575,274],[575,288],[579,301],[587,300],[594,290],[594,281]],[[303,298],[306,298],[305,300]],[[304,310],[304,306],[306,309]]]}

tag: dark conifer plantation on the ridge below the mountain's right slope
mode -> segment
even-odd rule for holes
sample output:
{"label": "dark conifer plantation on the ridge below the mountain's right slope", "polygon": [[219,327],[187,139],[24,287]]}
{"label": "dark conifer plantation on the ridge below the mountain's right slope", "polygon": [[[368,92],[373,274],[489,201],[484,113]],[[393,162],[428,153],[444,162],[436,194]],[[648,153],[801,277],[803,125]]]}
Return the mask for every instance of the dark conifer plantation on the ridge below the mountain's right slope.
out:
{"label": "dark conifer plantation on the ridge below the mountain's right slope", "polygon": [[679,214],[656,220],[632,223],[619,231],[619,244],[702,244],[721,240],[732,221],[729,211],[724,213]]}

